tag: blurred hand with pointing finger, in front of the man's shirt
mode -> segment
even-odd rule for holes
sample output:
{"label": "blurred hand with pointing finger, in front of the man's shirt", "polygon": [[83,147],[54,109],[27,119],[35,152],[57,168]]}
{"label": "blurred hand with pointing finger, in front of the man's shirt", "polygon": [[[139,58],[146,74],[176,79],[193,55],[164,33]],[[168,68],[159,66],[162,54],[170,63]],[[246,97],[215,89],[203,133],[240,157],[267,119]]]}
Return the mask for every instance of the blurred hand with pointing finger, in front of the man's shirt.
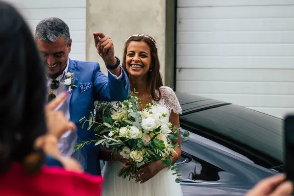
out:
{"label": "blurred hand with pointing finger, in front of the man's shirt", "polygon": [[58,140],[66,131],[76,130],[76,126],[73,122],[66,119],[62,112],[55,110],[55,108],[63,101],[65,101],[66,98],[67,93],[64,93],[61,96],[50,101],[45,108],[48,133],[56,136]]}

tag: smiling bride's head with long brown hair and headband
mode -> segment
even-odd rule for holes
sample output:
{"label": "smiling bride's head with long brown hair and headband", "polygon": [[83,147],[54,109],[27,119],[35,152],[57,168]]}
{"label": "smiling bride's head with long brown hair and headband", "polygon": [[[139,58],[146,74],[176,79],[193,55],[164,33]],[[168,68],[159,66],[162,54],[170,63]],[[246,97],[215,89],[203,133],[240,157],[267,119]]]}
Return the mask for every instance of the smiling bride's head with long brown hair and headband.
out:
{"label": "smiling bride's head with long brown hair and headband", "polygon": [[[148,35],[133,35],[126,40],[123,50],[123,69],[132,81],[147,79],[147,92],[151,94],[152,100],[161,98],[160,91],[155,93],[163,85],[162,76],[159,72],[160,63],[158,59],[157,45],[154,39]],[[131,90],[134,90],[131,86]]]}

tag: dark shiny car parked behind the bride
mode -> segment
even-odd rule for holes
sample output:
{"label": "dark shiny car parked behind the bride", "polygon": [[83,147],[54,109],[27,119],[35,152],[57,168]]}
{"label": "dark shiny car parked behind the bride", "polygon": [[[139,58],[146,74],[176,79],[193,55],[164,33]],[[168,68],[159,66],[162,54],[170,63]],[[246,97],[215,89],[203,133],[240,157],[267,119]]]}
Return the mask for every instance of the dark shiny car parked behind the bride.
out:
{"label": "dark shiny car parked behind the bride", "polygon": [[[231,103],[176,93],[183,109],[177,167],[184,196],[243,196],[283,167],[283,120]],[[102,167],[102,164],[101,164]]]}

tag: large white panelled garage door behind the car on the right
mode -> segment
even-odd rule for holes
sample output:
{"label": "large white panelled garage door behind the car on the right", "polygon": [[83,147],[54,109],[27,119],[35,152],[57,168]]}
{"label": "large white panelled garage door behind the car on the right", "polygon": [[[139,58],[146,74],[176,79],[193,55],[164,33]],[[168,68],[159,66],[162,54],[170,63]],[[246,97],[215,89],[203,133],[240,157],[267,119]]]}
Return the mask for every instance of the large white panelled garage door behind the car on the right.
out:
{"label": "large white panelled garage door behind the car on the right", "polygon": [[294,0],[178,0],[176,91],[294,112]]}

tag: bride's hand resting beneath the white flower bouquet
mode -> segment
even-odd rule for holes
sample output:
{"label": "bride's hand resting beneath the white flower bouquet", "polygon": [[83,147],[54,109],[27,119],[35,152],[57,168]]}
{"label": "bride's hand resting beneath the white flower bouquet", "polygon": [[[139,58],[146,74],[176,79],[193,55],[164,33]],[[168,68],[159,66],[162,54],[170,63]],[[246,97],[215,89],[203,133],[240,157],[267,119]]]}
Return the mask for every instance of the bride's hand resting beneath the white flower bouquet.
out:
{"label": "bride's hand resting beneath the white flower bouquet", "polygon": [[137,182],[147,182],[149,179],[151,179],[152,177],[154,177],[158,172],[160,172],[161,170],[163,170],[166,166],[162,164],[161,161],[157,161],[157,162],[149,162],[146,163],[142,166],[140,166],[139,172],[136,172],[134,175],[140,175],[140,177],[138,177],[135,180],[135,183]]}

